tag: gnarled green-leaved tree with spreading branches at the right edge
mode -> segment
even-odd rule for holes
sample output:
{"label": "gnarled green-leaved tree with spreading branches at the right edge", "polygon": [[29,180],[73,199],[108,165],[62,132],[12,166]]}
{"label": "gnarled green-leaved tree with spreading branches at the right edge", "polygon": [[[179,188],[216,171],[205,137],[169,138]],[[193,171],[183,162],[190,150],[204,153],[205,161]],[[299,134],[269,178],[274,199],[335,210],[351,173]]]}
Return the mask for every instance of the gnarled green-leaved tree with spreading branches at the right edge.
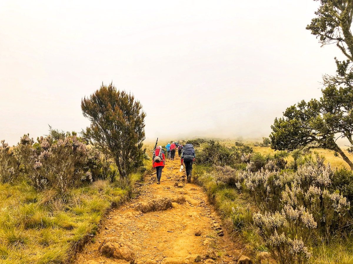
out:
{"label": "gnarled green-leaved tree with spreading branches at the right edge", "polygon": [[353,170],[353,163],[336,144],[347,138],[348,151],[353,152],[353,18],[352,0],[315,0],[321,5],[316,17],[306,29],[319,38],[322,45],[336,44],[346,60],[335,58],[335,75],[324,75],[320,100],[301,101],[288,107],[283,118],[271,126],[271,145],[274,149],[293,150],[315,143],[317,147],[334,150]]}

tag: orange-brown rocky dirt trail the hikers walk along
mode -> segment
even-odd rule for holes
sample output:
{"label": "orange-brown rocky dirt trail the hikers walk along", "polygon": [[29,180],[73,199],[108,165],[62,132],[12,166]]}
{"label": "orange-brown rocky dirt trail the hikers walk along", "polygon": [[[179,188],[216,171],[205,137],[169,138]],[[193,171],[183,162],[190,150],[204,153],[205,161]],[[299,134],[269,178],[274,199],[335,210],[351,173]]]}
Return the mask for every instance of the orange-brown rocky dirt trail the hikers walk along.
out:
{"label": "orange-brown rocky dirt trail the hikers walk along", "polygon": [[[110,212],[95,243],[86,245],[75,263],[127,263],[101,252],[100,246],[113,238],[124,241],[119,243],[133,251],[133,262],[137,264],[187,263],[185,258],[195,254],[205,263],[214,263],[212,258],[217,263],[236,262],[244,246],[232,242],[226,230],[220,235],[221,220],[207,195],[196,184],[186,183],[185,169],[182,172],[179,169],[177,155],[174,161],[167,159],[161,184],[156,183],[156,174],[151,180],[147,178],[146,182],[153,183],[138,187],[140,195],[136,199]],[[140,202],[163,197],[170,197],[172,208],[148,213],[137,210]],[[196,236],[196,231],[201,231],[201,235]],[[170,260],[171,257],[179,257],[180,261]]]}

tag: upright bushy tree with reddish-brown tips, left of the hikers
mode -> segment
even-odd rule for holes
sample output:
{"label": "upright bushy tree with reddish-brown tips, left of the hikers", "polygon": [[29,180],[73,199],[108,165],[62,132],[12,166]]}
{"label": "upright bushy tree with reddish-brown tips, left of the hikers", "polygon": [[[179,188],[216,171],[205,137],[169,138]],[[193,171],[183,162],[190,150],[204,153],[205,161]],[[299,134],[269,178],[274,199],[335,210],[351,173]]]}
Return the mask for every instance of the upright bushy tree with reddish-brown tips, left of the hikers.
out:
{"label": "upright bushy tree with reddish-brown tips, left of the hikers", "polygon": [[91,121],[84,137],[114,159],[120,177],[126,178],[143,165],[146,114],[132,94],[116,90],[113,83],[102,83],[99,90],[82,99],[81,109]]}

